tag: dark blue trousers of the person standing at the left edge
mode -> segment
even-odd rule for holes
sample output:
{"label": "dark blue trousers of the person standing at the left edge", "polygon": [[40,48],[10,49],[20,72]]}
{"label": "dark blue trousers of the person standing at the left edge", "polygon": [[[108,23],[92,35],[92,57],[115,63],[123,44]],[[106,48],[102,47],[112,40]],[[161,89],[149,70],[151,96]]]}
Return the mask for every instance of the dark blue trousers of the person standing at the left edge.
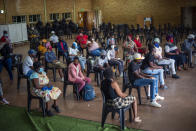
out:
{"label": "dark blue trousers of the person standing at the left edge", "polygon": [[13,74],[12,74],[12,58],[8,58],[4,61],[0,61],[0,72],[3,69],[3,66],[7,70],[10,80],[13,80]]}

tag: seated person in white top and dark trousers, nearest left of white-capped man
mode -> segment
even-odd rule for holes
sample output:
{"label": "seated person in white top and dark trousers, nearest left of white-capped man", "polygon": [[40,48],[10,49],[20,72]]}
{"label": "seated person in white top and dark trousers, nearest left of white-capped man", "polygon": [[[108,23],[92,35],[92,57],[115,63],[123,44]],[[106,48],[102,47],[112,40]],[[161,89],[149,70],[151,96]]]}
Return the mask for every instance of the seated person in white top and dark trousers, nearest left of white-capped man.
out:
{"label": "seated person in white top and dark trousers, nearest left of white-capped man", "polygon": [[116,55],[116,52],[114,49],[114,45],[110,45],[107,51],[107,59],[109,60],[109,64],[118,65],[118,71],[119,71],[120,77],[123,77],[123,69],[124,69],[123,61],[120,58],[116,58],[115,55]]}

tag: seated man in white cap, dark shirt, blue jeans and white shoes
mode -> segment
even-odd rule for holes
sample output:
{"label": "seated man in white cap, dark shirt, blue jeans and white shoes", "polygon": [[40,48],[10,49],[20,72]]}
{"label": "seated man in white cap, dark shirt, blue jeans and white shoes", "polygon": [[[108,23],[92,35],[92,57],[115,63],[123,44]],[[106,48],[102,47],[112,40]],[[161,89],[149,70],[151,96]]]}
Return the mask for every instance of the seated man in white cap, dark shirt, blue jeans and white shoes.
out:
{"label": "seated man in white cap, dark shirt, blue jeans and white shoes", "polygon": [[[151,106],[161,107],[157,100],[164,100],[164,97],[158,94],[158,79],[157,75],[149,76],[141,72],[141,61],[144,58],[139,53],[135,53],[134,60],[128,66],[128,77],[129,81],[133,86],[141,87],[150,85],[150,100]],[[156,79],[155,79],[155,78]]]}

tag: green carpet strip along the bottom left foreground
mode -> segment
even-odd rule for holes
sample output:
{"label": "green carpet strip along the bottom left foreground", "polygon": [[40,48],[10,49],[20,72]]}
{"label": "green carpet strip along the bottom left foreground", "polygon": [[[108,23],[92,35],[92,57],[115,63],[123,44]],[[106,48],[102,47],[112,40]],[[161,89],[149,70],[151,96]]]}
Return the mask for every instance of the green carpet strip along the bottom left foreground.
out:
{"label": "green carpet strip along the bottom left foreground", "polygon": [[[100,116],[101,117],[101,116]],[[0,131],[119,131],[118,126],[65,116],[42,117],[25,108],[0,105]],[[125,131],[139,131],[126,128]]]}

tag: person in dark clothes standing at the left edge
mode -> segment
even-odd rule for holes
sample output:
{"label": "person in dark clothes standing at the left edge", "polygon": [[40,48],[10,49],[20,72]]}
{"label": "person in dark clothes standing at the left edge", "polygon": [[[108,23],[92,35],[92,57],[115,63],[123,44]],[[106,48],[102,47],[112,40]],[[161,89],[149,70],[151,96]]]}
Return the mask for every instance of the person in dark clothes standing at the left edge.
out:
{"label": "person in dark clothes standing at the left edge", "polygon": [[6,41],[5,43],[1,44],[0,49],[0,73],[2,72],[3,66],[7,70],[11,82],[13,82],[13,74],[12,74],[12,58],[11,58],[11,48],[9,43]]}

